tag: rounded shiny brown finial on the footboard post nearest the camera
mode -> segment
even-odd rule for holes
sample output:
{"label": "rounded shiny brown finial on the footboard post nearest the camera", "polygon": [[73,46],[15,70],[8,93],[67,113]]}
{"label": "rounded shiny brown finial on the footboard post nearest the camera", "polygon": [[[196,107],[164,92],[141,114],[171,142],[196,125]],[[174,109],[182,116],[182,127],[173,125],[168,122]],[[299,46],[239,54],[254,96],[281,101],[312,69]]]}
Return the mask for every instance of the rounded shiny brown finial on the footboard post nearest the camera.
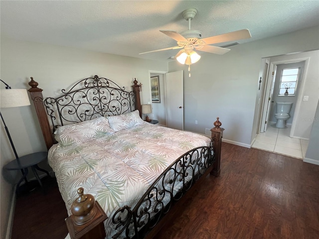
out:
{"label": "rounded shiny brown finial on the footboard post nearest the camera", "polygon": [[79,197],[71,205],[71,213],[74,216],[74,223],[78,226],[90,221],[95,213],[95,199],[91,194],[84,194],[84,189],[77,191]]}

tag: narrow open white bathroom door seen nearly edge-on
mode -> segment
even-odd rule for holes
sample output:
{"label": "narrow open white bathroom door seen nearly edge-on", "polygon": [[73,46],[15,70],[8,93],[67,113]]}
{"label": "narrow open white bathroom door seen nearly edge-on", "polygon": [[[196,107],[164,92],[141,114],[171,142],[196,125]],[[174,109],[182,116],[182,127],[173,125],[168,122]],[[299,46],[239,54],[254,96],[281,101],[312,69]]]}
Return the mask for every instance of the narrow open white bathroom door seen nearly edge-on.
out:
{"label": "narrow open white bathroom door seen nearly edge-on", "polygon": [[266,132],[267,126],[269,125],[269,113],[270,113],[270,107],[272,102],[272,96],[274,92],[274,81],[275,81],[275,75],[276,75],[277,66],[270,64],[270,71],[267,79],[267,87],[266,87],[266,96],[264,101],[264,112],[263,112],[263,118],[262,120],[262,127],[261,132]]}

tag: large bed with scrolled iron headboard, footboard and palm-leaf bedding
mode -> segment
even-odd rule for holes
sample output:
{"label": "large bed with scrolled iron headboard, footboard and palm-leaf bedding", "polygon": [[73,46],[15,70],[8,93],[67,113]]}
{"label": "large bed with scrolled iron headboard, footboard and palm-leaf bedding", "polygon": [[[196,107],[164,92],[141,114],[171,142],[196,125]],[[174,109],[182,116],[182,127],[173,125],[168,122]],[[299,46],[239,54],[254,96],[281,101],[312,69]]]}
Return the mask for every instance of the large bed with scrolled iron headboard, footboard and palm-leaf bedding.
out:
{"label": "large bed with scrolled iron headboard, footboard and palm-leaf bedding", "polygon": [[29,85],[68,214],[84,188],[109,217],[106,238],[153,237],[195,182],[220,173],[219,119],[211,138],[148,123],[136,80],[129,92],[94,76],[44,100]]}

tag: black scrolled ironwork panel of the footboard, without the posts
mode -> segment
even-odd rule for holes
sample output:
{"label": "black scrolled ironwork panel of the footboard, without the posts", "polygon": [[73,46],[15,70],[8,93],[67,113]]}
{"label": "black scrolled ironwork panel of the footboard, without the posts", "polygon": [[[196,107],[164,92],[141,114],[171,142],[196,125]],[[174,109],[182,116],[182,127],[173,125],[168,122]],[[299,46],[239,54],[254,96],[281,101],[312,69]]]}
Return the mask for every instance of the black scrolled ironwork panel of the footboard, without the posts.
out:
{"label": "black scrolled ironwork panel of the footboard, without the posts", "polygon": [[158,177],[133,209],[125,206],[116,211],[112,221],[120,230],[112,238],[144,238],[214,162],[213,142],[210,147],[184,153]]}

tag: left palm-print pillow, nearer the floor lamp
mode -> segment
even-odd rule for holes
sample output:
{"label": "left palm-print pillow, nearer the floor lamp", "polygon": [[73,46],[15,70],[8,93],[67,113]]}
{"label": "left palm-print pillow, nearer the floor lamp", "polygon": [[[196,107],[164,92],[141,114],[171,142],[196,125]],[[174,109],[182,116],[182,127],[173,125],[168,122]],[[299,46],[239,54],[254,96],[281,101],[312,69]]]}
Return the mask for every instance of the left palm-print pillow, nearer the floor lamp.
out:
{"label": "left palm-print pillow, nearer the floor lamp", "polygon": [[54,132],[60,146],[86,142],[112,133],[115,131],[110,128],[108,119],[104,117],[60,126]]}

